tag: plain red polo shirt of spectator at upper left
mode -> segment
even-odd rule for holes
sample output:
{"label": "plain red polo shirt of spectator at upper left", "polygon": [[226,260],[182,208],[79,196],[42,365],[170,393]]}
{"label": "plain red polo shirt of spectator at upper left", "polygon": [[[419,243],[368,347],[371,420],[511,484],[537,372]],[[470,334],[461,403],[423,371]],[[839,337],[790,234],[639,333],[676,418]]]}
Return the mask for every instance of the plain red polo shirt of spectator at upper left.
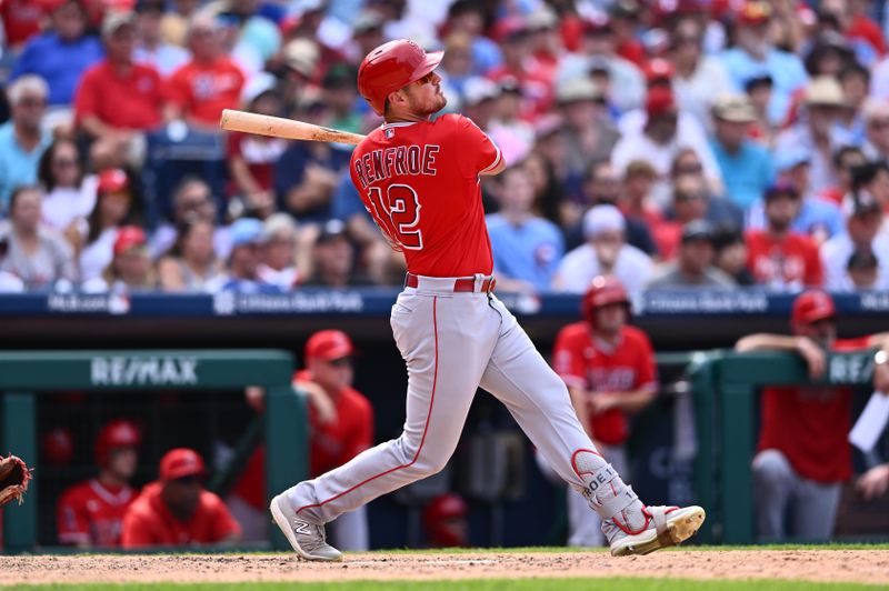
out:
{"label": "plain red polo shirt of spectator at upper left", "polygon": [[163,88],[151,66],[136,63],[120,76],[108,60],[83,74],[74,97],[77,121],[92,114],[118,129],[153,129],[160,124]]}

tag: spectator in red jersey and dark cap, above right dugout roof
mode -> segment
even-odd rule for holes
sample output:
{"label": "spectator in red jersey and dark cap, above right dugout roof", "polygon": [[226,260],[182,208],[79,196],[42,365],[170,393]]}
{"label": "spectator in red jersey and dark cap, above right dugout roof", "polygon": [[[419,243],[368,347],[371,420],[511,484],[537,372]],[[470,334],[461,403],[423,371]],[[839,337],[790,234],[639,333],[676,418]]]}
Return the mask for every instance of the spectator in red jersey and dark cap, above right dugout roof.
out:
{"label": "spectator in red jersey and dark cap, above right dugout roof", "polygon": [[765,230],[747,233],[747,266],[758,284],[773,291],[800,291],[821,287],[823,271],[818,247],[791,230],[800,211],[800,194],[790,183],[766,190]]}

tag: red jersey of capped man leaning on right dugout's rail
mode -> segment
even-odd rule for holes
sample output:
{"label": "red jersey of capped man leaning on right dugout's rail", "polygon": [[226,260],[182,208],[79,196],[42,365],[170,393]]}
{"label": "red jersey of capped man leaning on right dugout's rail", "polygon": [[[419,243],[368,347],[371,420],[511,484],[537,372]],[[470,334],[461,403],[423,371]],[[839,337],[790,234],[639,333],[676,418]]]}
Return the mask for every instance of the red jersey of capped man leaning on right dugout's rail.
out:
{"label": "red jersey of capped man leaning on right dugout's rail", "polygon": [[[869,337],[837,339],[832,351],[868,348]],[[762,389],[759,451],[776,449],[802,478],[842,482],[852,474],[849,429],[852,390],[806,385]]]}

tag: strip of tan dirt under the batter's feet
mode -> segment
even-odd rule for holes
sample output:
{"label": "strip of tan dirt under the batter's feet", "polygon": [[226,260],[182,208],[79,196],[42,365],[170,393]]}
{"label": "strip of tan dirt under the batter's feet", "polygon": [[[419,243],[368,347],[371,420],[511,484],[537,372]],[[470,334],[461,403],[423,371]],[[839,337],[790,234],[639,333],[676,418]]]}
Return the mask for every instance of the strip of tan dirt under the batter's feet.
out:
{"label": "strip of tan dirt under the batter's feet", "polygon": [[680,550],[611,558],[591,552],[347,554],[340,563],[291,554],[38,555],[0,558],[0,585],[347,580],[649,577],[792,579],[889,584],[889,550]]}

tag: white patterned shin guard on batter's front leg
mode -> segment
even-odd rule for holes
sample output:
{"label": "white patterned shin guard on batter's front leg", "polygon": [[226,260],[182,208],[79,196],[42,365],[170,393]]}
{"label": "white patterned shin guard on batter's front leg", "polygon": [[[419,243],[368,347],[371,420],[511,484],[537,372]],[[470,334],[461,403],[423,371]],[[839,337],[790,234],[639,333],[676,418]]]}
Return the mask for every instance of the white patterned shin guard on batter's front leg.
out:
{"label": "white patterned shin guard on batter's front leg", "polygon": [[575,471],[583,479],[583,497],[602,521],[620,520],[622,528],[630,531],[645,529],[645,505],[628,487],[610,463],[592,451],[575,454]]}

